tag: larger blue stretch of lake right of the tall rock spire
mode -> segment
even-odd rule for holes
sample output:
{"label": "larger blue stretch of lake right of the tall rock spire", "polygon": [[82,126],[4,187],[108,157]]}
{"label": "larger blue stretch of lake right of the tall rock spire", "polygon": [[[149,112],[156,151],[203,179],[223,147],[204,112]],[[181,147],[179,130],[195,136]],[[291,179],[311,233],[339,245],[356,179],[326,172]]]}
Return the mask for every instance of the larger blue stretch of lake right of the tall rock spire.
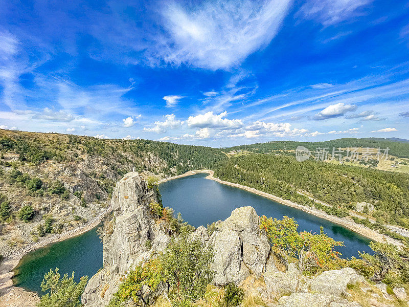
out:
{"label": "larger blue stretch of lake right of the tall rock spire", "polygon": [[343,257],[358,257],[358,251],[372,253],[368,246],[370,240],[356,232],[260,195],[205,179],[206,176],[201,173],[160,184],[163,205],[180,212],[184,220],[195,227],[206,227],[225,220],[236,208],[252,206],[258,215],[295,218],[300,225],[299,231],[320,233],[320,226],[323,226],[330,237],[344,242],[345,247],[338,248]]}

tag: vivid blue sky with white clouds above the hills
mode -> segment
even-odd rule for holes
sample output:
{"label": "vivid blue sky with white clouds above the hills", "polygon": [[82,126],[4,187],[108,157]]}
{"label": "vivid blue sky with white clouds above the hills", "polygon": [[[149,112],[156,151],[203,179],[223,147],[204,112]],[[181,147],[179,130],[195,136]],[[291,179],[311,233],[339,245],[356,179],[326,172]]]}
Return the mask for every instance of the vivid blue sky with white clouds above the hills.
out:
{"label": "vivid blue sky with white clouds above the hills", "polygon": [[408,138],[409,4],[0,0],[0,127],[215,147]]}

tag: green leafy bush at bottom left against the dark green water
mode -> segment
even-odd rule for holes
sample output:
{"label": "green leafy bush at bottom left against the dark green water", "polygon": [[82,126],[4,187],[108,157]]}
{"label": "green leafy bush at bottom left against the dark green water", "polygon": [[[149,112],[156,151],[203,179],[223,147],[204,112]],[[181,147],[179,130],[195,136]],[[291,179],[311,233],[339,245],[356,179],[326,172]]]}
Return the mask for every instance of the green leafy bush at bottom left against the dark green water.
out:
{"label": "green leafy bush at bottom left against the dark green water", "polygon": [[74,272],[71,277],[65,274],[61,278],[59,269],[51,270],[41,282],[41,291],[48,292],[41,296],[38,307],[80,307],[80,295],[84,292],[88,276],[82,276],[77,283],[74,280]]}

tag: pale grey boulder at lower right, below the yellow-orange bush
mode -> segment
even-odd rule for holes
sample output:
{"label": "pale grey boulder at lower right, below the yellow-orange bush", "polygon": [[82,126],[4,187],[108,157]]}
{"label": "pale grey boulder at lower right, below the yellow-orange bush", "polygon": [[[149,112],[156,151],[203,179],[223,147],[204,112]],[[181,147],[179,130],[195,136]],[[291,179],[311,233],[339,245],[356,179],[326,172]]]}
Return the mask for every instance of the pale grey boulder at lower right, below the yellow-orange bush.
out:
{"label": "pale grey boulder at lower right, below the yellow-orange bush", "polygon": [[325,271],[312,279],[310,290],[311,292],[341,296],[346,292],[348,284],[363,281],[365,279],[352,268]]}

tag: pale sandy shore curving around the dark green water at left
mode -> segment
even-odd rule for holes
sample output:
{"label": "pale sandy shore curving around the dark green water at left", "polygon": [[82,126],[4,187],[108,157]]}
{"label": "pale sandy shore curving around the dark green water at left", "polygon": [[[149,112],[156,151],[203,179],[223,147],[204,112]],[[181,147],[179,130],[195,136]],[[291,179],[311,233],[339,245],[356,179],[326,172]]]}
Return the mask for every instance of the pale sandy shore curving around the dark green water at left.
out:
{"label": "pale sandy shore curving around the dark green water at left", "polygon": [[13,277],[14,275],[13,270],[18,265],[22,256],[37,248],[41,248],[52,243],[75,237],[90,229],[93,229],[99,223],[101,223],[102,218],[110,212],[111,208],[109,207],[85,225],[76,229],[53,235],[50,238],[41,240],[40,242],[30,244],[3,261],[0,265],[0,307],[31,307],[35,306],[35,304],[39,300],[36,293],[28,292],[24,289],[13,286],[13,281],[11,280],[11,277]]}

